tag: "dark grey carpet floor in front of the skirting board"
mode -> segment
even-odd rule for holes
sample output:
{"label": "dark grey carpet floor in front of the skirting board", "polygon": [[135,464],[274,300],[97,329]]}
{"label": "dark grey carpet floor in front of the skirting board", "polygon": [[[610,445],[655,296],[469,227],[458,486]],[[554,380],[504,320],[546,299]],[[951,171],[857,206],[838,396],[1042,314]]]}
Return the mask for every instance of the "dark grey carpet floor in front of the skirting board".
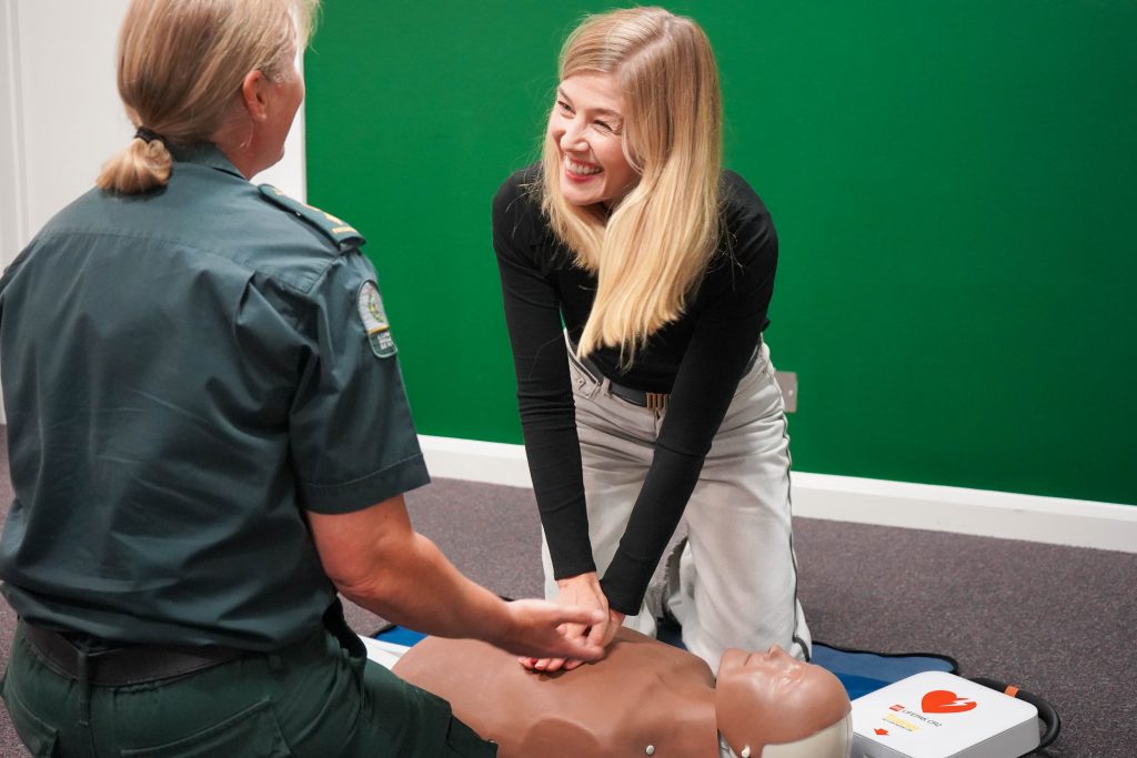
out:
{"label": "dark grey carpet floor in front of the skirting board", "polygon": [[[0,509],[11,501],[0,435]],[[530,490],[441,480],[408,494],[415,527],[507,597],[541,592]],[[1049,700],[1062,734],[1041,756],[1137,756],[1137,555],[795,519],[799,591],[814,639],[952,656],[964,676]],[[371,633],[382,619],[349,606]],[[0,665],[15,614],[0,603]],[[26,756],[0,709],[0,756]],[[534,757],[539,758],[539,757]]]}

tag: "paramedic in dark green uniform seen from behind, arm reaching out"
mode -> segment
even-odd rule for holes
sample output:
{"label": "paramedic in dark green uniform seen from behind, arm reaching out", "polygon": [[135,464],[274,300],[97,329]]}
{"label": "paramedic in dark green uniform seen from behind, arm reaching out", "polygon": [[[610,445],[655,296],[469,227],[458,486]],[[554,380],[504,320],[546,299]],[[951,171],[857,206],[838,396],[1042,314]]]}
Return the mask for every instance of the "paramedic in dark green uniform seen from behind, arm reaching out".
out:
{"label": "paramedic in dark green uniform seen from behind, arm reaching out", "polygon": [[337,590],[601,653],[558,630],[596,615],[504,602],[412,530],[428,475],[363,238],[247,181],[282,155],[314,5],[134,0],[136,135],[0,278],[2,689],[33,755],[493,755],[366,661]]}

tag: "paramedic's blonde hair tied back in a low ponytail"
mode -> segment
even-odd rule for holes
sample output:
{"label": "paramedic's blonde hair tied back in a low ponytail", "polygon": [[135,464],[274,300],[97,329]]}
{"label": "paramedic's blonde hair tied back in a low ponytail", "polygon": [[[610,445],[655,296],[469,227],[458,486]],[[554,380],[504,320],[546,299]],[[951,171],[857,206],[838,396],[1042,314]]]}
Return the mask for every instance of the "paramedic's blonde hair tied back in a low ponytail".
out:
{"label": "paramedic's blonde hair tied back in a low ponytail", "polygon": [[133,0],[118,36],[118,94],[135,136],[102,167],[103,190],[138,194],[169,181],[168,145],[208,141],[244,75],[280,75],[312,34],[319,0]]}

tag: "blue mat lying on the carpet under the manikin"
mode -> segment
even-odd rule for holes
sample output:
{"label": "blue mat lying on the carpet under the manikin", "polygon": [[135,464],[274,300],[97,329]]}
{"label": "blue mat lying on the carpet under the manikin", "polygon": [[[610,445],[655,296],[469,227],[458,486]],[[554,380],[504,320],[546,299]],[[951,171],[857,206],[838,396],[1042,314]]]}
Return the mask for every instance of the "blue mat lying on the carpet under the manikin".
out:
{"label": "blue mat lying on the carpet under the manikin", "polygon": [[[412,647],[423,639],[423,634],[401,626],[388,626],[375,634],[376,640]],[[679,627],[661,620],[658,628],[661,641],[682,648]],[[845,650],[824,644],[813,643],[813,663],[837,675],[845,685],[849,700],[856,700],[863,694],[875,692],[893,682],[919,674],[921,672],[947,672],[956,674],[958,666],[948,656],[937,653],[878,653],[864,650]]]}

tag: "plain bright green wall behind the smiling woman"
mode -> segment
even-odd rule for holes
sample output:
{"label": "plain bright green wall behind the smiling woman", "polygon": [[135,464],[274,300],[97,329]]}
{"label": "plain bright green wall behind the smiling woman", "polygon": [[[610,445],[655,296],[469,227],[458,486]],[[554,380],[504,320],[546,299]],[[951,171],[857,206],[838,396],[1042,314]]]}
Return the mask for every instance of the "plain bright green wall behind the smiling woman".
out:
{"label": "plain bright green wall behind the smiling woman", "polygon": [[[521,440],[490,200],[608,7],[325,0],[309,199],[370,240],[422,433]],[[795,467],[1137,503],[1137,3],[670,7],[779,228]]]}

